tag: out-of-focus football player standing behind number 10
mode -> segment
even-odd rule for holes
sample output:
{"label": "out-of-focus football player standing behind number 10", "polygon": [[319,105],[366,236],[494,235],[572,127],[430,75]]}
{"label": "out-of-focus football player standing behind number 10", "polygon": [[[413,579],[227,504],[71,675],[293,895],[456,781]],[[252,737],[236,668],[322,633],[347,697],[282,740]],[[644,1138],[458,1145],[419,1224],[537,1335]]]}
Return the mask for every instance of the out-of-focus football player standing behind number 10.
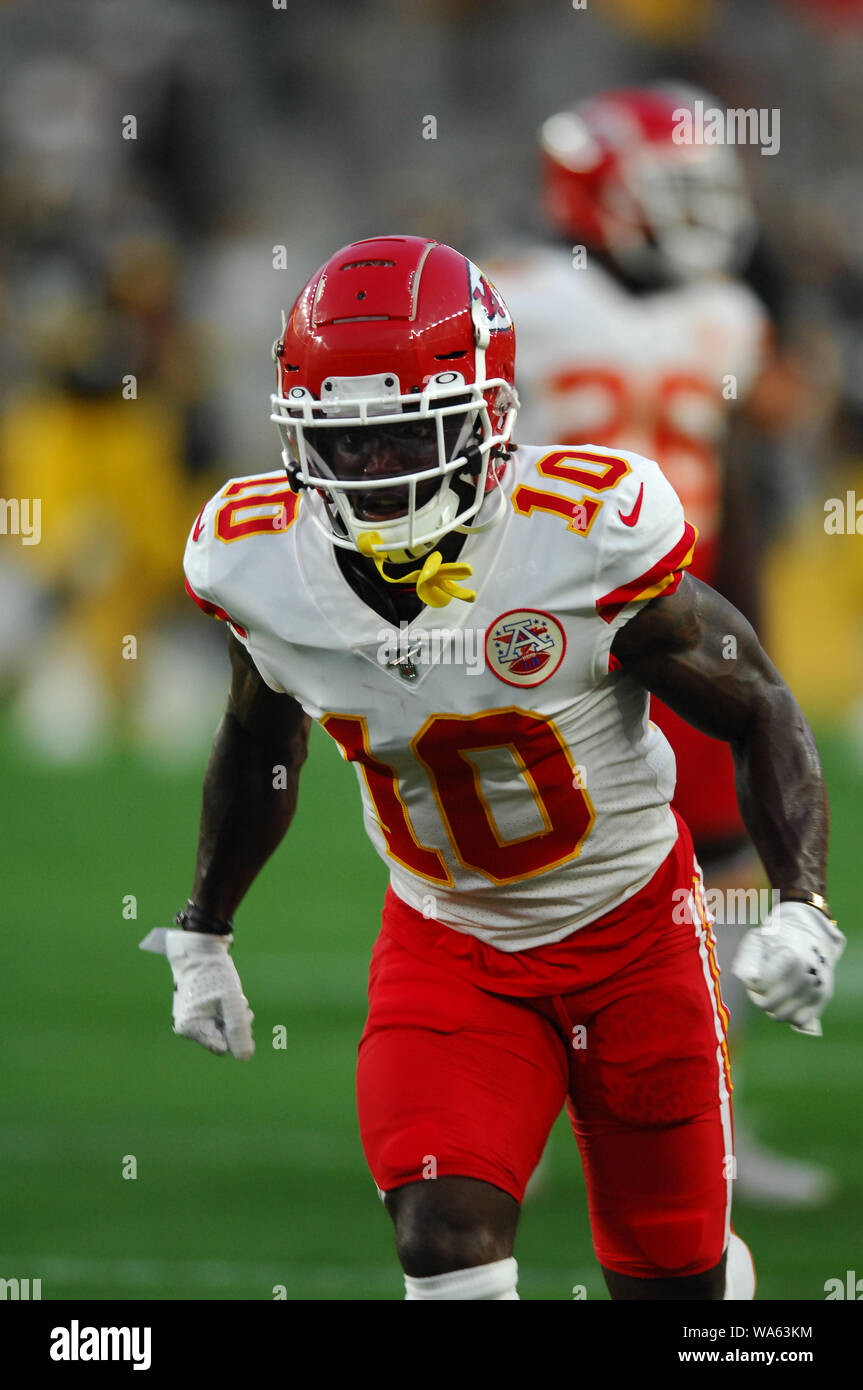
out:
{"label": "out-of-focus football player standing behind number 10", "polygon": [[[689,573],[757,627],[757,506],[746,455],[728,431],[735,411],[763,420],[777,391],[787,406],[787,371],[769,349],[767,313],[738,274],[756,218],[737,152],[680,139],[693,99],[691,89],[656,85],[605,92],[552,115],[541,164],[543,210],[559,240],[492,272],[518,324],[520,431],[655,459],[699,532]],[[650,717],[674,749],[674,809],[692,831],[712,901],[732,891],[731,903],[749,912],[764,878],[728,745],[660,701]],[[745,927],[737,912],[716,916],[737,1072],[749,1009],[730,965]],[[741,1195],[825,1200],[824,1169],[771,1154],[737,1119]]]}

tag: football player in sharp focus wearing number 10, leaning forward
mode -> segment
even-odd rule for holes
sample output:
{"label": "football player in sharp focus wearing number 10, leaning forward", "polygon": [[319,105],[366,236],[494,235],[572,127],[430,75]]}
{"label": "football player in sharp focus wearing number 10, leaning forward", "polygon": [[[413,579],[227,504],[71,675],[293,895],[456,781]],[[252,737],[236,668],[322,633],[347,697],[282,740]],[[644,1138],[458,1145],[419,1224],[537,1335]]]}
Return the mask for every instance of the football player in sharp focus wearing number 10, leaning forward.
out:
{"label": "football player in sharp focus wearing number 10, leaning forward", "polygon": [[[171,963],[174,1031],[252,1056],[233,916],[288,830],[314,719],[391,872],[357,1098],[406,1297],[518,1297],[520,1202],[566,1104],[611,1297],[750,1298],[713,937],[648,702],[731,744],[782,894],[739,969],[819,1034],[845,938],[803,714],[687,573],[695,530],[653,461],[513,450],[513,322],[459,252],[346,246],[274,350],[285,468],[229,481],[185,556],[233,677],[192,897],[143,942]],[[453,659],[466,630],[481,669]]]}

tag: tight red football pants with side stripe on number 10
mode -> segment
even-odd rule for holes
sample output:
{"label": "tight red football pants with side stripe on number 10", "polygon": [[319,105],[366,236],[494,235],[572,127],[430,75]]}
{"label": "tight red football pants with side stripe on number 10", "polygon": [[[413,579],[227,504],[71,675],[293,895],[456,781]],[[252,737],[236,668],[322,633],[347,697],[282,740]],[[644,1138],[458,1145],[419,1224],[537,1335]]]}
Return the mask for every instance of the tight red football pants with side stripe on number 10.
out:
{"label": "tight red football pants with side stripe on number 10", "polygon": [[646,888],[552,947],[495,951],[391,891],[357,1069],[375,1183],[475,1177],[521,1201],[566,1104],[600,1265],[710,1269],[731,1215],[725,1024],[682,821]]}

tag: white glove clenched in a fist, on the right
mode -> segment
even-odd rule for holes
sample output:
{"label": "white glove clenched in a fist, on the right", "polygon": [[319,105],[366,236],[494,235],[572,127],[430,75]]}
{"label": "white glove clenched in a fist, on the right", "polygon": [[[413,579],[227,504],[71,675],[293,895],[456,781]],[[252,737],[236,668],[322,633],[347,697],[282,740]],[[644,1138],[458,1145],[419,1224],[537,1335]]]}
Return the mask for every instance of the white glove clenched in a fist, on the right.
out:
{"label": "white glove clenched in a fist, on the right", "polygon": [[832,998],[832,972],[844,949],[845,937],[817,908],[780,902],[746,933],[731,969],[769,1019],[820,1038],[820,1016]]}

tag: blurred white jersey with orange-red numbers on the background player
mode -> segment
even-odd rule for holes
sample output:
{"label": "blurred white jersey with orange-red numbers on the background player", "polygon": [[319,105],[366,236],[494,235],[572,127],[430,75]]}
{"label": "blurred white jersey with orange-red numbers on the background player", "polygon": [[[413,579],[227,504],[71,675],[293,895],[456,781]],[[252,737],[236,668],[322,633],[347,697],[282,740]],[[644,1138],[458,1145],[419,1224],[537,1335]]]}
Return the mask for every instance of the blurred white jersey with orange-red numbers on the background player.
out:
{"label": "blurred white jersey with orange-red numbers on the background player", "polygon": [[638,295],[588,254],[538,247],[491,265],[516,324],[516,438],[592,439],[656,459],[713,580],[728,414],[762,364],[769,318],[739,281]]}

